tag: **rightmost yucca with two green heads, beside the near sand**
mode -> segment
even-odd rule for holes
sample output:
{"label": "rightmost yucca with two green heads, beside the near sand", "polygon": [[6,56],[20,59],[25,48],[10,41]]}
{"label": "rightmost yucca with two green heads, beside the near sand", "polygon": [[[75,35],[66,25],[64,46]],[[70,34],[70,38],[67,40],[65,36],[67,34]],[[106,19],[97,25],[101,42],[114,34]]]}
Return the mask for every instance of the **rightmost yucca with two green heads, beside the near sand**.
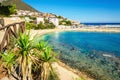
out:
{"label": "rightmost yucca with two green heads, beside the near sand", "polygon": [[50,75],[50,71],[53,72],[52,62],[55,61],[55,55],[52,54],[52,48],[47,46],[47,42],[39,41],[37,45],[37,49],[39,50],[39,60],[40,60],[40,80],[48,80]]}

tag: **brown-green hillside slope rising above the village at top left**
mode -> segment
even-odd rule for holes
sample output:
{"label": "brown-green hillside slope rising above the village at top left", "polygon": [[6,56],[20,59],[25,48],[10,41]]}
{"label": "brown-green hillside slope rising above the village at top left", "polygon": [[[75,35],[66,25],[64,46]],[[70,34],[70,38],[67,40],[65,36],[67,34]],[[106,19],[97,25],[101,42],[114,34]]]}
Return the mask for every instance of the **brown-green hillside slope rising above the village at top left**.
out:
{"label": "brown-green hillside slope rising above the village at top left", "polygon": [[37,11],[36,9],[32,8],[30,5],[23,2],[22,0],[8,0],[2,2],[2,5],[9,5],[9,4],[16,4],[18,10]]}

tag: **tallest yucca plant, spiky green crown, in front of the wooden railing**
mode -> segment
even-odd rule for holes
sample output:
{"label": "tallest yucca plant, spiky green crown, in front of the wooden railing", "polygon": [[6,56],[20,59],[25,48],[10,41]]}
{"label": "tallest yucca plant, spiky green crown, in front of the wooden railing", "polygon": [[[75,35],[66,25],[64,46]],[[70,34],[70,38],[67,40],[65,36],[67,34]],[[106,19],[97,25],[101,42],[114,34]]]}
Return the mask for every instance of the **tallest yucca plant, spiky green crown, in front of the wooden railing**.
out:
{"label": "tallest yucca plant, spiky green crown, in front of the wooden railing", "polygon": [[22,80],[32,80],[31,68],[34,57],[32,56],[31,43],[29,33],[20,33],[16,47],[18,48],[18,62],[20,62]]}

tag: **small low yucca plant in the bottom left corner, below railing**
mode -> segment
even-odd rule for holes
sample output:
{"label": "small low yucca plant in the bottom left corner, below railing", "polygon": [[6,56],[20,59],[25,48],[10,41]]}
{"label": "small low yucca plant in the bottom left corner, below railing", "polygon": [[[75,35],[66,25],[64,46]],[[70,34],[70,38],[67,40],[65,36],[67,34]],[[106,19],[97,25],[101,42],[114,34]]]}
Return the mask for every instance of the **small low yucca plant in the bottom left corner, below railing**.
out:
{"label": "small low yucca plant in the bottom left corner, below railing", "polygon": [[2,64],[4,66],[4,68],[7,69],[7,74],[8,77],[12,74],[13,70],[13,65],[15,64],[15,60],[16,60],[16,55],[13,52],[7,52],[7,53],[1,53],[1,60],[2,60]]}

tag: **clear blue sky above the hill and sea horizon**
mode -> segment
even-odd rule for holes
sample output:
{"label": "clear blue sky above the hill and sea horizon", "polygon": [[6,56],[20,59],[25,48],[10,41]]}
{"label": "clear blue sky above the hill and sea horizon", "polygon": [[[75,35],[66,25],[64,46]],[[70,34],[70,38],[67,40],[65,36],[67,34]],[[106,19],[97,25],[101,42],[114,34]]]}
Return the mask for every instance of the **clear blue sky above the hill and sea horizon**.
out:
{"label": "clear blue sky above the hill and sea horizon", "polygon": [[85,22],[120,22],[120,0],[23,0],[40,12]]}

